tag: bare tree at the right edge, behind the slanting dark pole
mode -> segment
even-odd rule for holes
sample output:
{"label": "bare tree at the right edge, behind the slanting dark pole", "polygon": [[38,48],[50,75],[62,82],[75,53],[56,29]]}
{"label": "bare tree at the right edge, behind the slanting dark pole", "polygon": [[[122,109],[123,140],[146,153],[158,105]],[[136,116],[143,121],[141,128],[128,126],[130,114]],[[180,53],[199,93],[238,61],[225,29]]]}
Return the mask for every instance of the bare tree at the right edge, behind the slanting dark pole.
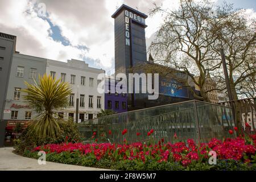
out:
{"label": "bare tree at the right edge, behind the slanting dark pole", "polygon": [[[224,4],[218,9],[218,44],[213,48],[219,52],[221,45],[225,51],[229,71],[230,87],[234,100],[238,97],[255,97],[256,74],[256,21],[245,15],[245,10],[234,10]],[[223,70],[214,73],[224,81]]]}

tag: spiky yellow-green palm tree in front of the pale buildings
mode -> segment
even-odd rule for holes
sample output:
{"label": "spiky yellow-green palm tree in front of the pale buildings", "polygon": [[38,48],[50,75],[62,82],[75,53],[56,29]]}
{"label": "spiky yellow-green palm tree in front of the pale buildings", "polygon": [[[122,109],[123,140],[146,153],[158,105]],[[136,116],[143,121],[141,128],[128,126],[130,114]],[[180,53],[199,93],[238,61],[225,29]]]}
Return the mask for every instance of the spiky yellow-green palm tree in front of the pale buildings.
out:
{"label": "spiky yellow-green palm tree in front of the pale buildings", "polygon": [[39,140],[47,137],[55,139],[59,137],[64,123],[64,119],[55,111],[68,107],[68,96],[72,88],[68,82],[61,82],[46,74],[39,76],[39,84],[34,82],[34,85],[25,82],[27,89],[22,90],[27,93],[24,99],[37,113],[28,126],[28,134]]}

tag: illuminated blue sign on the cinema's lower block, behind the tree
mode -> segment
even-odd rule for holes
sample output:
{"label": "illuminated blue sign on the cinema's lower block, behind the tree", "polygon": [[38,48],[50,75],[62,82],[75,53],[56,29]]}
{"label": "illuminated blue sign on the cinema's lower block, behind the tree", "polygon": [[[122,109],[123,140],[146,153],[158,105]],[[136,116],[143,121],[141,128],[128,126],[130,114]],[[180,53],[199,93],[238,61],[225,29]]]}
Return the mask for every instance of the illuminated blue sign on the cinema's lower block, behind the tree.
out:
{"label": "illuminated blue sign on the cinema's lower block, behind the tree", "polygon": [[171,97],[188,98],[188,88],[182,87],[182,84],[173,78],[159,80],[159,93]]}

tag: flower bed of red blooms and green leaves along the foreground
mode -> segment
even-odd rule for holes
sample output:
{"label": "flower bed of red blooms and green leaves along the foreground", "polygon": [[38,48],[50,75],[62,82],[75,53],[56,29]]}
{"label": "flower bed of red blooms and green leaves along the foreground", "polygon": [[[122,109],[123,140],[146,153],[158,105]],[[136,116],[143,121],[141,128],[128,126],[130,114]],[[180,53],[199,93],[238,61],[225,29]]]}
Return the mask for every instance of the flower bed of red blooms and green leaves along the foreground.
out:
{"label": "flower bed of red blooms and green leaves along the foreground", "polygon": [[[150,143],[62,143],[35,147],[24,155],[38,158],[45,151],[48,161],[130,170],[256,170],[256,135],[238,137],[224,142],[213,138],[208,143],[187,142]],[[210,151],[217,154],[217,163],[209,164]]]}

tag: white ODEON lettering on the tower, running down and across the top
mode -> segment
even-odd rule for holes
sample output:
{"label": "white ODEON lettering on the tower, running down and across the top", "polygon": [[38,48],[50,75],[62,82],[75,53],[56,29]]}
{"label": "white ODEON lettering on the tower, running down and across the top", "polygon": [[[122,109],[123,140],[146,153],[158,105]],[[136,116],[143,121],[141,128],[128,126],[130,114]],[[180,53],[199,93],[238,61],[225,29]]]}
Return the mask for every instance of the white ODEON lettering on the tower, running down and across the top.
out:
{"label": "white ODEON lettering on the tower, running down and across the top", "polygon": [[130,46],[130,19],[145,25],[145,19],[141,16],[125,10],[125,45]]}

